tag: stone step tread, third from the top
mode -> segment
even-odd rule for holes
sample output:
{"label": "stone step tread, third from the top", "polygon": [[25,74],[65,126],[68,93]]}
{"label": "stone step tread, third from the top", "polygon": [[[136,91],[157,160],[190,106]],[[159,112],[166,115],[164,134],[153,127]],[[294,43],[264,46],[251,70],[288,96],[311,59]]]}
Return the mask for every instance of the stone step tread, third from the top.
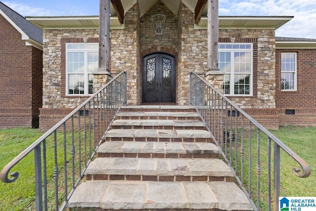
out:
{"label": "stone step tread, third from the top", "polygon": [[113,126],[205,127],[199,120],[115,120]]}

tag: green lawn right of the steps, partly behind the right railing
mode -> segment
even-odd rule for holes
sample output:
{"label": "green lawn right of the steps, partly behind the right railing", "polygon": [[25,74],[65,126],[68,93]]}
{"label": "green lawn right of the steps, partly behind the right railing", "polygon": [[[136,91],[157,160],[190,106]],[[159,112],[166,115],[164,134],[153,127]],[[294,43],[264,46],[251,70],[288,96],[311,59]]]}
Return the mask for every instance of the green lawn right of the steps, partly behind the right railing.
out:
{"label": "green lawn right of the steps, partly behind the right railing", "polygon": [[[315,163],[316,163],[316,151],[315,151],[315,141],[316,141],[316,127],[294,127],[294,126],[283,126],[279,127],[279,130],[271,130],[271,132],[281,140],[285,145],[292,149],[298,156],[305,160],[311,167],[311,176],[308,178],[297,177],[293,172],[293,167],[299,167],[298,163],[294,161],[287,153],[280,149],[280,196],[316,196],[315,186],[316,186],[316,174],[314,173]],[[241,177],[241,156],[240,156],[240,144],[241,144],[241,132],[238,130],[238,142],[234,141],[228,147],[227,158],[231,159],[232,166],[235,167],[237,153],[237,174],[239,178],[243,181],[244,186],[248,190],[248,180],[249,180],[249,165],[248,157],[249,152],[249,141],[248,141],[249,131],[244,133],[244,146],[245,146],[245,155],[244,155],[244,167],[243,167],[243,179]],[[260,137],[260,207],[262,211],[268,210],[268,138],[264,133],[259,134]],[[257,165],[257,132],[252,131],[252,150],[251,150],[251,196],[254,203],[257,205],[257,174],[256,174],[256,165]],[[237,144],[237,145],[236,145]],[[273,188],[273,142],[271,149],[271,187]],[[232,148],[231,148],[232,147]],[[230,154],[232,151],[232,154]],[[272,189],[273,197],[273,189]],[[272,202],[274,199],[272,199]]]}

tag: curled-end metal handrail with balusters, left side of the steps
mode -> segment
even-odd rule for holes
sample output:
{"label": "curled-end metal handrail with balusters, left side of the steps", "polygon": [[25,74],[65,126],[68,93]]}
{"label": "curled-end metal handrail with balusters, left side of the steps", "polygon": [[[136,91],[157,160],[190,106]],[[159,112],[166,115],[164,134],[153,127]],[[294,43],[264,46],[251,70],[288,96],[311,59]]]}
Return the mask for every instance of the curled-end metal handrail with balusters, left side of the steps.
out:
{"label": "curled-end metal handrail with balusters, left side of the steps", "polygon": [[[78,124],[79,124],[79,129],[78,132],[82,132],[84,130],[84,136],[86,136],[86,130],[90,130],[89,134],[92,133],[92,128],[93,130],[98,129],[96,132],[93,133],[94,136],[94,141],[93,142],[98,142],[96,143],[94,150],[98,147],[99,141],[102,141],[104,138],[104,134],[106,131],[109,129],[111,126],[116,114],[118,113],[118,110],[121,108],[123,104],[126,104],[126,71],[120,72],[116,77],[114,77],[112,80],[110,80],[107,84],[105,84],[100,90],[98,90],[96,93],[94,93],[92,96],[90,96],[87,100],[85,100],[79,107],[74,109],[69,115],[67,115],[65,118],[63,118],[59,123],[57,123],[55,126],[53,126],[51,129],[49,129],[47,132],[45,132],[39,139],[37,139],[35,142],[33,142],[29,147],[27,147],[23,152],[21,152],[18,156],[16,156],[13,160],[11,160],[1,171],[0,171],[0,180],[4,183],[10,183],[15,181],[19,173],[18,172],[12,172],[10,176],[12,178],[9,178],[9,172],[10,170],[17,165],[25,156],[27,156],[30,152],[33,150],[36,152],[37,147],[40,146],[40,144],[43,144],[45,140],[52,134],[56,136],[56,132],[60,127],[64,127],[64,137],[66,133],[66,122],[67,121],[72,121],[71,127],[72,127],[72,139],[74,140],[74,117],[78,114]],[[84,114],[84,117],[80,119],[80,110],[85,112],[88,111],[89,113],[89,120],[86,120],[86,116]],[[93,112],[93,117],[90,114],[90,110]],[[109,111],[110,110],[110,111]],[[91,113],[92,113],[91,112]],[[110,112],[110,113],[109,113]],[[103,115],[103,119],[99,120],[99,117]],[[106,117],[104,117],[106,116]],[[88,119],[87,118],[87,119]],[[93,118],[93,119],[92,119]],[[109,124],[105,123],[104,120],[106,118],[110,118],[111,121]],[[82,120],[84,119],[84,120]],[[84,128],[80,126],[80,122],[83,122],[84,124],[88,121],[89,123],[89,128],[87,128],[84,125]],[[99,121],[99,125],[98,124]],[[91,124],[93,122],[93,124]],[[100,130],[100,131],[99,131]],[[104,130],[104,131],[101,131]],[[100,137],[95,137],[100,134]],[[90,135],[91,136],[91,135]],[[87,137],[83,137],[86,139]],[[90,137],[91,138],[91,137]],[[66,139],[66,138],[64,138]],[[80,141],[80,140],[79,140]],[[56,142],[56,137],[55,137],[55,142]],[[73,141],[74,142],[74,141]],[[57,146],[55,146],[56,148]],[[90,146],[91,147],[91,146]],[[80,149],[79,149],[80,150]],[[86,150],[86,149],[85,149]],[[43,152],[44,153],[44,152]],[[94,155],[94,153],[90,152],[90,155]],[[75,146],[74,143],[72,144],[71,148],[71,155],[74,158],[75,156]],[[57,156],[57,155],[55,155]],[[80,155],[79,155],[80,156]],[[90,156],[89,159],[92,157]],[[65,161],[64,161],[65,162]],[[74,162],[75,163],[75,162]],[[89,163],[89,161],[85,161],[85,164]],[[57,164],[57,162],[56,162]],[[37,165],[37,164],[36,164]],[[81,167],[80,167],[81,168]],[[55,170],[58,168],[55,167],[54,169],[54,176],[55,175]],[[74,170],[74,169],[73,169]],[[81,169],[80,169],[81,171]],[[83,172],[81,172],[83,173]],[[74,174],[73,174],[74,175]],[[78,182],[77,182],[78,183]],[[67,195],[67,193],[65,194]],[[67,201],[67,199],[66,199]],[[38,208],[37,208],[38,209]]]}

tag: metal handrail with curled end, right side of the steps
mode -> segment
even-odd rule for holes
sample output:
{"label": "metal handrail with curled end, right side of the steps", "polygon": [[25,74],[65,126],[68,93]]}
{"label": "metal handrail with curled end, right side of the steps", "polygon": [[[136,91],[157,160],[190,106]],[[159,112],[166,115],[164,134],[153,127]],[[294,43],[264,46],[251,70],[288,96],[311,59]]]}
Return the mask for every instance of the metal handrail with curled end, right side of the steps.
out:
{"label": "metal handrail with curled end, right side of the steps", "polygon": [[[239,185],[242,187],[243,191],[246,193],[249,201],[252,203],[254,209],[260,209],[260,203],[258,203],[257,206],[254,205],[254,203],[251,200],[251,184],[248,184],[249,190],[246,191],[246,189],[243,187],[243,171],[241,170],[241,173],[237,173],[237,163],[238,163],[238,156],[241,160],[241,169],[243,167],[243,159],[245,154],[245,144],[246,138],[244,138],[244,126],[247,124],[249,125],[249,139],[252,139],[252,126],[254,126],[257,129],[257,162],[256,162],[256,174],[258,177],[258,190],[259,190],[259,184],[260,184],[260,175],[261,175],[261,165],[260,165],[260,132],[263,132],[269,142],[269,152],[271,153],[271,141],[274,142],[274,191],[275,195],[274,197],[279,197],[279,181],[277,181],[277,178],[279,178],[279,149],[282,149],[284,152],[286,152],[289,156],[292,157],[293,160],[295,160],[299,165],[300,168],[294,167],[292,169],[293,173],[301,178],[308,177],[311,174],[311,168],[309,165],[301,158],[299,157],[295,152],[293,152],[289,147],[287,147],[283,142],[281,142],[276,136],[274,136],[269,130],[267,130],[265,127],[261,126],[257,121],[255,121],[252,117],[250,117],[245,111],[243,111],[241,108],[239,108],[234,102],[232,102],[230,99],[228,99],[225,95],[223,95],[219,90],[214,88],[211,84],[209,84],[207,81],[205,81],[203,78],[201,78],[197,73],[190,72],[190,104],[196,107],[197,112],[200,114],[203,122],[205,123],[207,129],[211,132],[214,142],[217,144],[217,146],[221,149],[221,153],[224,157],[224,160],[230,165],[231,169],[233,170],[235,177],[237,178],[237,181]],[[235,111],[235,114],[233,113],[233,110]],[[230,114],[230,115],[228,115]],[[230,117],[228,117],[230,116]],[[239,116],[239,117],[238,117]],[[248,120],[244,121],[244,119]],[[235,127],[235,129],[234,129]],[[238,137],[238,128],[241,128],[241,134]],[[237,135],[237,137],[234,137],[233,133]],[[224,137],[225,136],[225,137]],[[240,144],[240,155],[237,155],[237,142],[241,139]],[[235,140],[236,139],[236,140]],[[233,143],[235,141],[235,144]],[[227,143],[229,142],[229,143]],[[250,141],[249,141],[250,142]],[[236,154],[232,153],[232,145],[236,147]],[[249,154],[251,155],[251,142],[249,143]],[[249,166],[252,165],[251,163],[251,156],[249,155]],[[270,158],[269,158],[270,159]],[[269,160],[270,162],[270,160]],[[277,163],[278,162],[278,163]],[[231,164],[235,163],[235,167],[232,167]],[[268,165],[268,168],[271,169],[271,165]],[[250,171],[251,169],[249,169]],[[272,170],[272,169],[271,169]],[[270,179],[272,178],[271,172],[268,172]],[[239,178],[241,177],[241,179]],[[251,176],[249,172],[249,183],[251,183]],[[270,184],[269,184],[270,185]],[[271,191],[269,187],[269,191]],[[250,193],[249,193],[250,192]],[[270,197],[270,196],[269,196]],[[270,198],[269,198],[270,199]],[[260,201],[260,196],[258,193],[257,202]],[[271,200],[270,200],[271,201]],[[269,207],[270,207],[270,202]],[[278,203],[278,201],[277,201]],[[278,206],[275,202],[275,210]],[[270,210],[270,209],[269,209]]]}

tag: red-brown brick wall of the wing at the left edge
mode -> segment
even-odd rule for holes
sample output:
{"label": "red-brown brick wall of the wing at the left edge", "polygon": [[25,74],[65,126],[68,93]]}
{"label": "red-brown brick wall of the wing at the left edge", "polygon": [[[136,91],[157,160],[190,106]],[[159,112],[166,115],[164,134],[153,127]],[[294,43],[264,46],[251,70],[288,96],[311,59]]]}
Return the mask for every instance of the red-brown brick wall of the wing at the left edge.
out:
{"label": "red-brown brick wall of the wing at the left edge", "polygon": [[42,51],[0,16],[0,127],[38,127]]}

